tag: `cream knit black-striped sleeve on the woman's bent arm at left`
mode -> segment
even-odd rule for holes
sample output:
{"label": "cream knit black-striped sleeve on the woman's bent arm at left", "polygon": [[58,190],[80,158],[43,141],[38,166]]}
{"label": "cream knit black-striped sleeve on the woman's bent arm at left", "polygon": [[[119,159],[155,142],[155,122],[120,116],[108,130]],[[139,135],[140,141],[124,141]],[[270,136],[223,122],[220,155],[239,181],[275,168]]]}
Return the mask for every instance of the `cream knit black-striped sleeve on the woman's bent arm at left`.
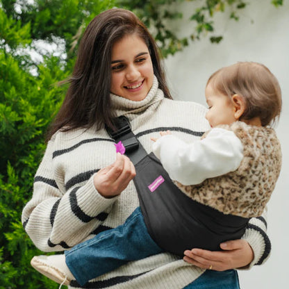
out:
{"label": "cream knit black-striped sleeve on the woman's bent arm at left", "polygon": [[84,185],[66,191],[63,172],[53,170],[54,141],[55,137],[47,145],[36,172],[33,197],[22,214],[26,232],[42,251],[63,251],[85,240],[117,199],[106,199],[97,192],[94,174]]}

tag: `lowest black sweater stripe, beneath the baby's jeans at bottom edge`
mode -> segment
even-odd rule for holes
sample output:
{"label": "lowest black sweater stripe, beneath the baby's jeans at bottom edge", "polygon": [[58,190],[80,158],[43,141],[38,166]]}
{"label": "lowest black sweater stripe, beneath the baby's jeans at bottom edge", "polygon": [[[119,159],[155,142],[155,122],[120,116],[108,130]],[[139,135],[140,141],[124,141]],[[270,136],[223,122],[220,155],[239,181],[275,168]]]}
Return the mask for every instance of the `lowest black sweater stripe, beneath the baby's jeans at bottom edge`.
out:
{"label": "lowest black sweater stripe, beneath the baby's jeans at bottom edge", "polygon": [[69,284],[72,288],[83,288],[83,289],[99,289],[99,288],[108,288],[110,286],[114,286],[119,283],[124,283],[130,280],[133,280],[135,278],[138,278],[139,276],[142,276],[143,274],[147,274],[149,271],[142,272],[140,274],[130,275],[130,276],[116,276],[107,280],[102,281],[90,281],[86,283],[83,286],[80,286],[79,283],[77,283],[76,280],[72,280]]}

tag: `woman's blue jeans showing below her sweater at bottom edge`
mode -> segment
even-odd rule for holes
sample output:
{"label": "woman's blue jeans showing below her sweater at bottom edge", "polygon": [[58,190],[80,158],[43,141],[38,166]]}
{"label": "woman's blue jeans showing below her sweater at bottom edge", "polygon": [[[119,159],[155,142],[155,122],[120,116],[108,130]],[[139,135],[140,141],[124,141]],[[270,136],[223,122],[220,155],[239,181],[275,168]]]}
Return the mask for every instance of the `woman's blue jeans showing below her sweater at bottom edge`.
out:
{"label": "woman's blue jeans showing below her sweater at bottom edge", "polygon": [[240,289],[236,270],[218,272],[206,270],[198,279],[183,289]]}

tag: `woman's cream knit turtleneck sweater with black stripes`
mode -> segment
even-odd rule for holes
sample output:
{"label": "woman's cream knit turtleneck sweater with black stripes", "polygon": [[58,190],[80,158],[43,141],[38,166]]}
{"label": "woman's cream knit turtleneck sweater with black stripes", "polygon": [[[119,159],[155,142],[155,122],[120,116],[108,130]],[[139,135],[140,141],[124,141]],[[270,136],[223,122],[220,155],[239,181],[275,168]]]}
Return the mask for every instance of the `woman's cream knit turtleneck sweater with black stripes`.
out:
{"label": "woman's cream knit turtleneck sweater with black stripes", "polygon": [[[151,137],[170,130],[185,142],[192,142],[208,129],[206,108],[186,101],[165,99],[154,79],[142,101],[111,95],[117,116],[126,115],[142,146],[151,151]],[[115,161],[115,146],[106,130],[58,131],[49,141],[35,174],[33,196],[24,207],[22,223],[36,247],[42,251],[63,251],[97,233],[122,224],[139,206],[133,181],[121,195],[102,197],[93,176]],[[264,217],[251,219],[245,240],[254,250],[251,265],[263,263],[270,254]],[[89,266],[89,265],[88,265]],[[89,270],[89,268],[88,268]],[[204,270],[169,253],[134,261],[90,281],[89,288],[183,288]],[[69,288],[81,288],[72,281]],[[88,288],[88,287],[85,287]]]}

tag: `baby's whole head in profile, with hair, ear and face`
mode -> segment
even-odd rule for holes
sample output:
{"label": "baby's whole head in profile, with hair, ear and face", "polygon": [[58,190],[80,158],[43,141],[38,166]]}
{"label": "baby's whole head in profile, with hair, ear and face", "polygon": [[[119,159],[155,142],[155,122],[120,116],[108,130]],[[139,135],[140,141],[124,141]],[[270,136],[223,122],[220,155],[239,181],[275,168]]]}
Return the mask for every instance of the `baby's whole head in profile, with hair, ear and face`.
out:
{"label": "baby's whole head in profile, with hair, ear and face", "polygon": [[206,84],[211,126],[240,120],[248,124],[273,124],[281,113],[281,89],[265,65],[242,62],[223,67]]}

